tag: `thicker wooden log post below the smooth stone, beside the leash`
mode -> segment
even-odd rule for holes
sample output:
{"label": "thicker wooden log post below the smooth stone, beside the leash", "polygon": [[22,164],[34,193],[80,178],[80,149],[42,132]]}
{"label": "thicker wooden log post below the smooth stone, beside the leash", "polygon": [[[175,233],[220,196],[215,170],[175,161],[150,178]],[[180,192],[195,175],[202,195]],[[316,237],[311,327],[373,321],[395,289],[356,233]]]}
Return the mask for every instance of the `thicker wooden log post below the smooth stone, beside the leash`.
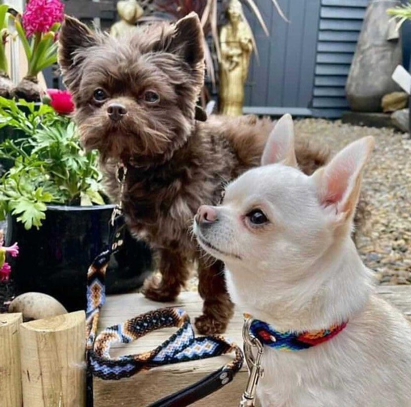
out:
{"label": "thicker wooden log post below the smooth stone, beside the leash", "polygon": [[23,405],[85,406],[83,311],[20,326]]}

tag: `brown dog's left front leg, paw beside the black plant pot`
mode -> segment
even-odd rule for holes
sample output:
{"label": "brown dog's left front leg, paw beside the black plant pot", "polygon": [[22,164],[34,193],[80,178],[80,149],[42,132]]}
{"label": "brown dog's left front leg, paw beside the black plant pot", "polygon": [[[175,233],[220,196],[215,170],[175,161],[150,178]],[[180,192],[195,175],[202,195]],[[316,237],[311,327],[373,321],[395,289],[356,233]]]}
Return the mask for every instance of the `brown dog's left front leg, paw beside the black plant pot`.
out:
{"label": "brown dog's left front leg, paw beside the black plant pot", "polygon": [[160,250],[161,278],[154,274],[144,282],[143,293],[154,301],[172,301],[180,293],[189,276],[187,260],[180,253]]}

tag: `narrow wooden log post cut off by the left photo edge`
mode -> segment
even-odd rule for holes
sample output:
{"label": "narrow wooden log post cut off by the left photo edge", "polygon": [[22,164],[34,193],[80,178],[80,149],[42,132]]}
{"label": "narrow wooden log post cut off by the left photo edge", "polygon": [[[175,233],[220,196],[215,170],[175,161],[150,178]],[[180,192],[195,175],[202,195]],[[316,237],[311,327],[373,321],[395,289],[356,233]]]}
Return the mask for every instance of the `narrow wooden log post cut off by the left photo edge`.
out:
{"label": "narrow wooden log post cut off by the left photo edge", "polygon": [[19,328],[20,313],[0,314],[0,404],[3,407],[20,407],[21,371]]}

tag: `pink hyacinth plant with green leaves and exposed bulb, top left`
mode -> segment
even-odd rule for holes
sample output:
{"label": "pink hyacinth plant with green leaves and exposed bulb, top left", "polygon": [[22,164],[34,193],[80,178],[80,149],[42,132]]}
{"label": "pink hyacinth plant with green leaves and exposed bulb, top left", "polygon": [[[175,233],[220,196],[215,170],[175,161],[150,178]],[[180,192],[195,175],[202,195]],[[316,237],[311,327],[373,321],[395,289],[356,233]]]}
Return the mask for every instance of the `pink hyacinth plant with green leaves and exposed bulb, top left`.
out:
{"label": "pink hyacinth plant with green leaves and exposed bulb, top left", "polygon": [[13,89],[12,96],[39,102],[41,89],[37,75],[44,68],[57,63],[56,39],[64,18],[64,4],[60,0],[30,0],[23,15],[14,13],[13,16],[28,70]]}

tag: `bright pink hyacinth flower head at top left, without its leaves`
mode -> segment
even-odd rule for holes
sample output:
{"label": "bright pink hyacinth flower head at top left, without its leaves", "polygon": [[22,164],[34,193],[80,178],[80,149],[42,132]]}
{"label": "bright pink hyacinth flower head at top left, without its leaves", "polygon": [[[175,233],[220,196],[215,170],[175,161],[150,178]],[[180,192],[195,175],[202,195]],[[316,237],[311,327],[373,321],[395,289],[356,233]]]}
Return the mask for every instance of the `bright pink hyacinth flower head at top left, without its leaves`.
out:
{"label": "bright pink hyacinth flower head at top left, without its leaves", "polygon": [[23,13],[26,37],[36,32],[49,32],[55,23],[64,19],[64,4],[60,0],[30,0]]}

